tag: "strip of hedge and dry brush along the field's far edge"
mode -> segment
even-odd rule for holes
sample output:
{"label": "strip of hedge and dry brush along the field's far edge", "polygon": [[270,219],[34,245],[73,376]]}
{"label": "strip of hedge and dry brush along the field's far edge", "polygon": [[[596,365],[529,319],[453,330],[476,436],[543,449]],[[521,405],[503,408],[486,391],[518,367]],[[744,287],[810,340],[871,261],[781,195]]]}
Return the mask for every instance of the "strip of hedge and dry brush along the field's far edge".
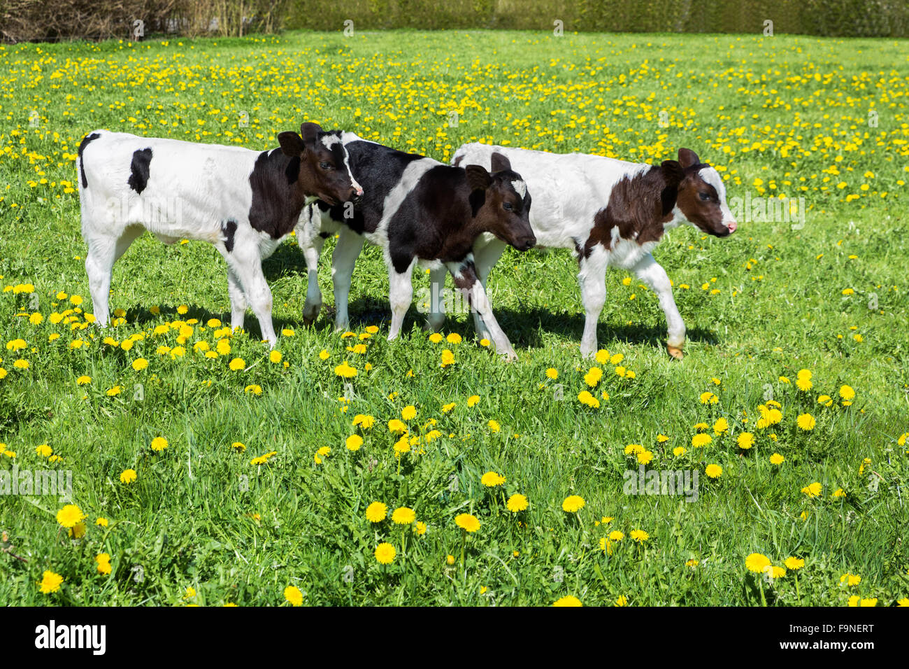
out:
{"label": "strip of hedge and dry brush along the field's far edge", "polygon": [[246,35],[283,29],[510,28],[565,32],[909,36],[907,0],[0,0],[6,42]]}

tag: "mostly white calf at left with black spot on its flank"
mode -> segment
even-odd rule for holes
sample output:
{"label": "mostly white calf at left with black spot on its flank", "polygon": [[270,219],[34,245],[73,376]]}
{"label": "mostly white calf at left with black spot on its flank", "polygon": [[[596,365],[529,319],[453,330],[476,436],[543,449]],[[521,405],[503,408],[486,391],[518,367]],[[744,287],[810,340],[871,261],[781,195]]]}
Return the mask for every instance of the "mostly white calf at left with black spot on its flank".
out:
{"label": "mostly white calf at left with black spot on its flank", "polygon": [[281,133],[281,147],[269,151],[89,133],[79,145],[79,204],[97,322],[107,324],[115,261],[149,230],[167,244],[214,244],[227,261],[231,327],[243,327],[248,304],[274,346],[262,258],[294,229],[307,202],[337,204],[363,194],[338,131],[305,123],[300,132]]}

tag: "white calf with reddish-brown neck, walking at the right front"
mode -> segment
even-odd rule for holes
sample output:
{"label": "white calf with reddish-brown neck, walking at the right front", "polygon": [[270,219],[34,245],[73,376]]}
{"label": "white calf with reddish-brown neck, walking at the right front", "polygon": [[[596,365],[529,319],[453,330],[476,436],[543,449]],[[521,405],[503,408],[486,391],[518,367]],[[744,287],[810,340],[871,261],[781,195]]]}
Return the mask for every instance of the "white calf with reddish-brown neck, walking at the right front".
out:
{"label": "white calf with reddish-brown neck, walking at the right front", "polygon": [[[672,285],[651,251],[666,230],[690,223],[707,234],[726,237],[735,221],[726,206],[723,179],[694,151],[681,148],[678,161],[659,167],[584,154],[551,154],[522,148],[465,144],[454,165],[489,165],[495,154],[508,157],[534,191],[531,226],[541,247],[572,248],[578,259],[586,319],[581,353],[596,351],[596,322],[606,297],[610,265],[634,271],[653,289],[666,316],[666,349],[682,359],[684,321]],[[484,235],[474,244],[474,263],[485,286],[504,244]],[[434,287],[435,289],[435,287]],[[436,322],[445,319],[435,314]],[[474,319],[483,336],[483,323]]]}

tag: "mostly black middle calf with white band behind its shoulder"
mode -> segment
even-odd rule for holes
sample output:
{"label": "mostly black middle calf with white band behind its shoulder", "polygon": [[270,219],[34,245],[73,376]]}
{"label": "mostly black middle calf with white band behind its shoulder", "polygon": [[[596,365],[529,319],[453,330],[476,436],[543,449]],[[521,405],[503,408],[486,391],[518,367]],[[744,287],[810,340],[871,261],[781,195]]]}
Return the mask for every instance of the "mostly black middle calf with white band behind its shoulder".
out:
{"label": "mostly black middle calf with white band behind its shoulder", "polygon": [[[413,299],[411,273],[417,261],[433,277],[454,277],[497,352],[514,350],[495,320],[474,269],[474,241],[488,233],[502,244],[527,250],[536,243],[530,228],[530,194],[508,159],[494,154],[485,167],[452,167],[432,158],[396,151],[351,133],[342,142],[351,169],[365,188],[355,207],[319,202],[301,217],[297,241],[309,269],[304,316],[315,319],[322,304],[316,265],[322,244],[339,231],[332,257],[335,326],[348,326],[347,298],[356,257],[364,239],[383,248],[388,267],[392,323],[388,339],[398,336]],[[345,215],[346,214],[346,215]],[[441,294],[436,293],[436,295]]]}

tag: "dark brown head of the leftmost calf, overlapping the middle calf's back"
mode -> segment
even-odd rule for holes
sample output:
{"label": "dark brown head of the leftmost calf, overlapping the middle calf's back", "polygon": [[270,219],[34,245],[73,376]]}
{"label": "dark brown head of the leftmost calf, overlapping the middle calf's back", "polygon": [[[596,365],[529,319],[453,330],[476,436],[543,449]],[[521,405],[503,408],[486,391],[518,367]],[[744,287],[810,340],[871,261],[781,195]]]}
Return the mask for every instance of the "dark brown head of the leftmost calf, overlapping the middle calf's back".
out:
{"label": "dark brown head of the leftmost calf, overlapping the middle calf's back", "polygon": [[350,173],[347,149],[337,132],[325,132],[316,123],[304,123],[300,134],[288,130],[278,135],[281,151],[290,157],[287,182],[305,198],[319,198],[336,205],[356,200],[363,188]]}

